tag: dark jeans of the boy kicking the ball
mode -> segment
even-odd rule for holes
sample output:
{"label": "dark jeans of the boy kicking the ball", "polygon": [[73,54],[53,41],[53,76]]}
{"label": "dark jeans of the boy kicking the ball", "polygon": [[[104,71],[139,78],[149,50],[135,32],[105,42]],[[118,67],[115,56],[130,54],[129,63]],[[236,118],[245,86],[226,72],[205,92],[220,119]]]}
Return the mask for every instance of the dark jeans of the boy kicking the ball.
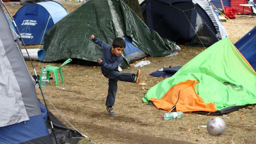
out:
{"label": "dark jeans of the boy kicking the ball", "polygon": [[134,83],[134,73],[120,73],[119,71],[103,69],[102,74],[109,78],[108,80],[108,96],[106,106],[113,106],[116,98],[117,81]]}

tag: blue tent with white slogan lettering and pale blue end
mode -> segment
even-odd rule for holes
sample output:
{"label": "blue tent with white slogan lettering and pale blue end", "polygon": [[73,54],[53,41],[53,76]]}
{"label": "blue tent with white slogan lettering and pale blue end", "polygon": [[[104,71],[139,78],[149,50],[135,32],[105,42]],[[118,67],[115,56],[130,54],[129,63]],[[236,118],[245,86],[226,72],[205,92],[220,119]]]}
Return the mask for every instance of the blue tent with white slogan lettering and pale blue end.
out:
{"label": "blue tent with white slogan lettering and pale blue end", "polygon": [[44,34],[68,14],[61,4],[54,1],[27,4],[13,16],[27,45],[43,44]]}

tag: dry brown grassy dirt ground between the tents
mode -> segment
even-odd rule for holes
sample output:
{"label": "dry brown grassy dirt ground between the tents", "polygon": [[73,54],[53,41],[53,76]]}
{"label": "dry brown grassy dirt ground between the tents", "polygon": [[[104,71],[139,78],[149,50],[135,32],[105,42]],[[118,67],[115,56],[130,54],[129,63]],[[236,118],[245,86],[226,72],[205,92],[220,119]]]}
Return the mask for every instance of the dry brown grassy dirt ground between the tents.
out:
{"label": "dry brown grassy dirt ground between the tents", "polygon": [[[60,3],[68,12],[72,12],[81,4],[65,1]],[[6,4],[12,15],[21,7]],[[232,42],[236,42],[256,25],[256,19],[249,17],[237,15],[236,19],[222,22]],[[250,23],[247,24],[248,22]],[[240,28],[242,29],[239,30]],[[176,56],[146,58],[151,62],[150,65],[141,67],[141,82],[146,85],[118,82],[114,117],[110,117],[105,109],[108,79],[102,75],[98,66],[67,64],[62,67],[65,83],[59,85],[65,89],[55,88],[55,81],[50,81],[43,91],[78,130],[97,143],[256,143],[255,105],[219,116],[226,122],[226,131],[223,135],[214,137],[207,133],[206,128],[199,127],[206,125],[213,116],[185,113],[183,118],[165,121],[160,117],[167,111],[142,102],[147,90],[164,79],[150,77],[149,73],[162,67],[184,65],[204,50],[204,47],[179,46],[182,50]],[[28,46],[34,47],[38,45]],[[30,62],[26,62],[33,74]],[[38,74],[40,67],[44,65],[61,65],[55,62],[33,63]],[[123,72],[129,73],[136,71],[134,66],[123,69]],[[39,91],[38,97],[42,100]],[[49,105],[49,109],[68,126],[52,106]],[[84,138],[79,143],[88,141]]]}

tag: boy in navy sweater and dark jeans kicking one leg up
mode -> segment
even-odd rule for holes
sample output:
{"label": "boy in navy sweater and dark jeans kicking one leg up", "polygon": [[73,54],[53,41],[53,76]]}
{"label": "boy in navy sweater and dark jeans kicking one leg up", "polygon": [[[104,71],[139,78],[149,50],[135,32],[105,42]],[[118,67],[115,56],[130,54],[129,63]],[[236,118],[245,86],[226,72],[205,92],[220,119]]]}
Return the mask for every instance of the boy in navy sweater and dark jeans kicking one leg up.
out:
{"label": "boy in navy sweater and dark jeans kicking one leg up", "polygon": [[122,38],[114,39],[112,46],[106,44],[105,41],[96,38],[94,35],[91,35],[91,40],[102,47],[102,59],[98,59],[98,63],[101,66],[102,74],[109,79],[106,109],[110,116],[114,116],[115,112],[113,105],[115,103],[117,81],[138,84],[140,82],[141,70],[138,70],[136,74],[119,72],[118,65],[123,60],[121,54],[125,48],[125,41]]}

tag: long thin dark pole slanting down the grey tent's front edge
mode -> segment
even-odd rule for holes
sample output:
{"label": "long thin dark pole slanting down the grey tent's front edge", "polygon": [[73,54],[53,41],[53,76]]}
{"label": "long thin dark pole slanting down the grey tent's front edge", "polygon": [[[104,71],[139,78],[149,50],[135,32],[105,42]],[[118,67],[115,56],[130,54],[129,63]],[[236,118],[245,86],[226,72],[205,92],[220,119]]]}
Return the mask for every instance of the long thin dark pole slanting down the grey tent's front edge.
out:
{"label": "long thin dark pole slanting down the grey tent's front edge", "polygon": [[51,119],[50,119],[49,110],[48,110],[47,105],[46,105],[46,102],[45,102],[45,98],[44,98],[44,95],[43,95],[42,88],[41,88],[40,83],[39,83],[39,81],[38,81],[38,79],[37,79],[37,74],[36,74],[35,67],[34,67],[34,65],[33,65],[33,63],[32,63],[32,60],[31,60],[30,56],[29,56],[28,50],[27,50],[26,45],[25,45],[25,43],[24,43],[24,41],[23,41],[23,39],[22,39],[22,36],[20,35],[19,29],[18,29],[18,27],[17,27],[15,21],[14,21],[13,18],[12,18],[12,15],[10,14],[9,10],[7,9],[7,7],[5,6],[5,4],[3,3],[3,1],[2,1],[2,0],[0,0],[0,1],[2,2],[4,8],[7,10],[9,16],[11,17],[11,19],[12,19],[14,25],[15,25],[15,28],[17,29],[17,31],[18,31],[18,33],[19,33],[20,40],[22,40],[22,42],[23,42],[23,44],[24,44],[24,47],[25,47],[25,50],[26,50],[26,52],[27,52],[27,54],[28,54],[30,63],[31,63],[31,65],[32,65],[33,70],[34,70],[34,73],[35,73],[35,75],[36,75],[36,83],[39,85],[39,88],[40,88],[40,90],[41,90],[42,97],[43,97],[43,99],[44,99],[44,103],[45,103],[45,107],[46,107],[47,115],[48,115],[47,118],[48,118],[48,120],[50,121],[50,124],[51,124],[51,127],[52,127],[51,130],[52,130],[52,132],[53,132],[53,134],[54,134],[55,142],[56,142],[56,144],[57,144],[57,138],[56,138],[56,135],[55,135],[55,132],[54,132],[54,127],[53,127],[52,121],[51,121]]}

